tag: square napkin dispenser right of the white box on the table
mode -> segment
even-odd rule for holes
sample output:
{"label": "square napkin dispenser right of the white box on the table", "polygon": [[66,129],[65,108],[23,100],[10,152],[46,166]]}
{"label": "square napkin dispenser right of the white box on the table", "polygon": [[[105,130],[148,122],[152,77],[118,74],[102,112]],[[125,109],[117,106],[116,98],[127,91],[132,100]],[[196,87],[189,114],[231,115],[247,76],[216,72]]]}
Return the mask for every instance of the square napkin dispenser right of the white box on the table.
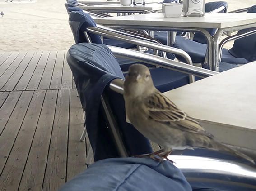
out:
{"label": "square napkin dispenser right of the white box on the table", "polygon": [[199,17],[205,15],[205,0],[183,0],[183,15]]}

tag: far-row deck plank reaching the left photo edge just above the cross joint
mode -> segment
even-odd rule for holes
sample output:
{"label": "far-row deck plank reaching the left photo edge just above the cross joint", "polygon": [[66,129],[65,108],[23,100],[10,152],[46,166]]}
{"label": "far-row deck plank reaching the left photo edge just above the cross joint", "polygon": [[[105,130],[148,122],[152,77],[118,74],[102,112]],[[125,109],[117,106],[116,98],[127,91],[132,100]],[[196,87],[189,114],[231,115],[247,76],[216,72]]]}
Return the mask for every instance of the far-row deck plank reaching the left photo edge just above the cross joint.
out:
{"label": "far-row deck plank reaching the left photo edge just above the cross joint", "polygon": [[20,62],[25,57],[26,52],[21,52],[15,58],[14,62],[8,67],[8,69],[3,73],[3,75],[0,77],[0,89],[5,85],[5,83],[9,80],[9,78],[13,75],[13,73],[16,71],[17,67],[19,67]]}

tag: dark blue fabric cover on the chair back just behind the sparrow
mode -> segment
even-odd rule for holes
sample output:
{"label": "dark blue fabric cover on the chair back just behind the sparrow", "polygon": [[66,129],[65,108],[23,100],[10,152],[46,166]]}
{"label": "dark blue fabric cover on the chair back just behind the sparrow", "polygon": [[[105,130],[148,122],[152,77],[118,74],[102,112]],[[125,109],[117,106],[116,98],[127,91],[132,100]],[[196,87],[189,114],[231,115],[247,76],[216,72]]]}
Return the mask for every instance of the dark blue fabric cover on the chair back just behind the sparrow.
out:
{"label": "dark blue fabric cover on the chair back just behind the sparrow", "polygon": [[[68,51],[67,62],[74,76],[80,101],[86,111],[86,129],[93,148],[94,160],[117,157],[118,153],[115,150],[112,136],[109,134],[104,116],[100,111],[100,97],[110,81],[115,78],[124,79],[119,63],[106,45],[88,43],[73,45]],[[123,119],[125,111],[122,95],[109,97],[111,98],[110,102],[114,102],[114,106],[118,107],[114,108],[116,109],[115,113],[118,114],[116,118],[120,122],[119,125],[124,134],[123,138],[129,154],[152,152],[148,139]],[[116,104],[116,102],[119,103]],[[126,128],[126,125],[129,128]]]}

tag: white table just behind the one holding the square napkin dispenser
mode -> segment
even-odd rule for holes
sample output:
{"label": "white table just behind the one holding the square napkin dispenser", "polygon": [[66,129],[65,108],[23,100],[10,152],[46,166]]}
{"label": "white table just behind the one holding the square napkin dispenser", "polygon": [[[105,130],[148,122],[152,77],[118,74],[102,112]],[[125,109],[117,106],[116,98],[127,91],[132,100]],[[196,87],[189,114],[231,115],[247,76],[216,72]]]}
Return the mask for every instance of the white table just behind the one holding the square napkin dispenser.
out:
{"label": "white table just behind the one holding the square napkin dispenser", "polygon": [[80,7],[85,11],[104,11],[109,13],[147,13],[147,11],[162,10],[162,4],[148,3],[135,6],[133,4],[129,6],[123,6],[121,4],[101,4],[94,6]]}

